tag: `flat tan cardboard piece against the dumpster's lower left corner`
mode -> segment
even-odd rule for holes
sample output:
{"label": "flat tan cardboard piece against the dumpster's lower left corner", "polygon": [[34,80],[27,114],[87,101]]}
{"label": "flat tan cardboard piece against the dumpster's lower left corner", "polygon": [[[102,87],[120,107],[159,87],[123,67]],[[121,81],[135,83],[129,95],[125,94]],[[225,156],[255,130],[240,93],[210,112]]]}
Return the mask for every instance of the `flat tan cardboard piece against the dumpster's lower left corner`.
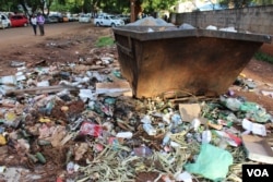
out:
{"label": "flat tan cardboard piece against the dumpster's lower left corner", "polygon": [[96,83],[96,94],[132,96],[132,89],[127,81]]}

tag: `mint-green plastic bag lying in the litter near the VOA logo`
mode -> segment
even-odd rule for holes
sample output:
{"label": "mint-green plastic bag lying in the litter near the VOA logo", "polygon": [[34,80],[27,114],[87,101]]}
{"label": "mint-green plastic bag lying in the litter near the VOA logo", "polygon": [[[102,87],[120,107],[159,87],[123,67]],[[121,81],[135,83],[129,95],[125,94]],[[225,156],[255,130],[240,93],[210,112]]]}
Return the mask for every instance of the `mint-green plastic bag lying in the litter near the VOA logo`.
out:
{"label": "mint-green plastic bag lying in the litter near the VOA logo", "polygon": [[213,181],[223,181],[230,165],[233,165],[233,156],[229,151],[211,144],[202,144],[195,163],[187,163],[185,169]]}

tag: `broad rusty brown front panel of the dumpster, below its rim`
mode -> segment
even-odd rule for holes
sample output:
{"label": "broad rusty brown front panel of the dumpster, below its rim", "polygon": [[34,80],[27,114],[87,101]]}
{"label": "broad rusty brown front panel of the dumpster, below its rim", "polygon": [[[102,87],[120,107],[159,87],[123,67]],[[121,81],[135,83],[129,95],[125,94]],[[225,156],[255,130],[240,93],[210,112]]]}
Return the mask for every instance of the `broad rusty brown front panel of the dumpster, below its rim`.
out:
{"label": "broad rusty brown front panel of the dumpster, below its rim", "polygon": [[[216,96],[233,84],[261,43],[207,37],[149,40],[138,44],[136,97],[167,92]],[[142,53],[140,53],[142,52]],[[134,78],[136,80],[136,78]]]}

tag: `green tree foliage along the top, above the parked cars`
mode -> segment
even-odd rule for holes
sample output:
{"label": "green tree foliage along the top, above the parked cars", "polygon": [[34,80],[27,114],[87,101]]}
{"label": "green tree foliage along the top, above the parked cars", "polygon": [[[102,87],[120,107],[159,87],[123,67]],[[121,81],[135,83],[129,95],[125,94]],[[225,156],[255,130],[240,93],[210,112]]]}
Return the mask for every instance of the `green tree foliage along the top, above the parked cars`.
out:
{"label": "green tree foliage along the top, above the parked cars", "polygon": [[[194,0],[138,0],[141,3],[141,11],[144,13],[169,10],[178,2]],[[212,1],[212,0],[209,0]],[[222,5],[229,8],[242,8],[249,5],[269,5],[272,0],[217,0]],[[44,3],[49,11],[70,11],[71,13],[91,13],[99,10],[108,13],[130,13],[130,0],[0,0],[0,11],[21,12],[31,14],[35,11],[43,11]],[[22,7],[22,9],[19,9]],[[31,8],[31,11],[27,11]]]}

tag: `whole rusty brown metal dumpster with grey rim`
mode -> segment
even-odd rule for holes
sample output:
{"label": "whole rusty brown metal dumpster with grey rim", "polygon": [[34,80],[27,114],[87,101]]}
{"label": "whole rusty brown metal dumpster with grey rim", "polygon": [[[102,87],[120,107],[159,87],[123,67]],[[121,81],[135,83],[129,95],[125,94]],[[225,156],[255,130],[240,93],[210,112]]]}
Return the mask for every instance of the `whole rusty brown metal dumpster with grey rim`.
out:
{"label": "whole rusty brown metal dumpster with grey rim", "polygon": [[136,98],[174,90],[194,96],[226,93],[262,44],[271,43],[269,35],[170,29],[112,28],[121,73]]}

